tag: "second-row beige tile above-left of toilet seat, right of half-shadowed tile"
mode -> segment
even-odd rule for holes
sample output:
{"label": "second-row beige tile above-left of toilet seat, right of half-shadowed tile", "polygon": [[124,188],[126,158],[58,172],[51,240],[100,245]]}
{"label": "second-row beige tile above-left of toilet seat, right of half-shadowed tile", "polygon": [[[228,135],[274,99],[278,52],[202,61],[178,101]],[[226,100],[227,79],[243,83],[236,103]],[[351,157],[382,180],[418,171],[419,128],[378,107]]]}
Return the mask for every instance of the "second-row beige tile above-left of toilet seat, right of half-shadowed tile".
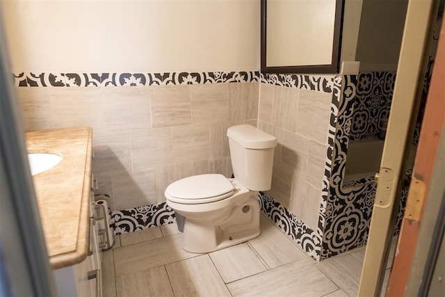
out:
{"label": "second-row beige tile above-left of toilet seat, right of half-shadowed tile", "polygon": [[173,164],[172,129],[129,131],[133,170]]}

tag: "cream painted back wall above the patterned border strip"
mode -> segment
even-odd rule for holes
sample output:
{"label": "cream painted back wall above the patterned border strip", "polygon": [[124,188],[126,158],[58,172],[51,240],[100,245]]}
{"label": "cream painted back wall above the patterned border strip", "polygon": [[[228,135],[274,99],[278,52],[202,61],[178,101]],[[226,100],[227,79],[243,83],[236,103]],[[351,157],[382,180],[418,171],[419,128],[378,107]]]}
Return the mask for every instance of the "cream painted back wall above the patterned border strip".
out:
{"label": "cream painted back wall above the patterned border strip", "polygon": [[259,69],[259,0],[2,0],[13,72]]}

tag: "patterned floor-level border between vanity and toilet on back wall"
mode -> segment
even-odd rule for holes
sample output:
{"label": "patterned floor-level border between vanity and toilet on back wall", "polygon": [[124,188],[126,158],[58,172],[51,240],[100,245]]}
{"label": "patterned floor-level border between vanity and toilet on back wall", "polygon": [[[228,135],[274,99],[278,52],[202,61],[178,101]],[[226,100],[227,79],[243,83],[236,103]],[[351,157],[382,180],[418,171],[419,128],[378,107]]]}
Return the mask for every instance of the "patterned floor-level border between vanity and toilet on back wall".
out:
{"label": "patterned floor-level border between vanity and toilet on back wall", "polygon": [[121,211],[113,211],[111,220],[114,222],[114,234],[124,234],[175,223],[175,211],[165,202],[136,207]]}

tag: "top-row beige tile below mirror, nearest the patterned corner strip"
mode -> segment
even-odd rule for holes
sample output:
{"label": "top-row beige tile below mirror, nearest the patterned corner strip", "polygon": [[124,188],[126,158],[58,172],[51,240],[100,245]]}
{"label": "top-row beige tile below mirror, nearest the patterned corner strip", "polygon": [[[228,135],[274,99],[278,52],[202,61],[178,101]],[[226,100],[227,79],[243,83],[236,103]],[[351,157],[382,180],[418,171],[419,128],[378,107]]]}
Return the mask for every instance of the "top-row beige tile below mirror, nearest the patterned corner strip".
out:
{"label": "top-row beige tile below mirror, nearest the patterned corner strip", "polygon": [[319,143],[327,143],[332,93],[300,90],[296,131]]}

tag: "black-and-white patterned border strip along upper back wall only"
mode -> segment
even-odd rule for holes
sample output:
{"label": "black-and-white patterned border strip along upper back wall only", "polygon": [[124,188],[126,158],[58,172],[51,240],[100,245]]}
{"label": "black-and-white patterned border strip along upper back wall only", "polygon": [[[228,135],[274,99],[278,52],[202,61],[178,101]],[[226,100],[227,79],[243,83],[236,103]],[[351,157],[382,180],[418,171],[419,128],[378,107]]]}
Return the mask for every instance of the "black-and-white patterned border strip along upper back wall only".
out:
{"label": "black-and-white patterned border strip along upper back wall only", "polygon": [[258,71],[163,72],[163,73],[35,73],[14,74],[15,86],[165,86],[197,83],[240,83],[261,81]]}

